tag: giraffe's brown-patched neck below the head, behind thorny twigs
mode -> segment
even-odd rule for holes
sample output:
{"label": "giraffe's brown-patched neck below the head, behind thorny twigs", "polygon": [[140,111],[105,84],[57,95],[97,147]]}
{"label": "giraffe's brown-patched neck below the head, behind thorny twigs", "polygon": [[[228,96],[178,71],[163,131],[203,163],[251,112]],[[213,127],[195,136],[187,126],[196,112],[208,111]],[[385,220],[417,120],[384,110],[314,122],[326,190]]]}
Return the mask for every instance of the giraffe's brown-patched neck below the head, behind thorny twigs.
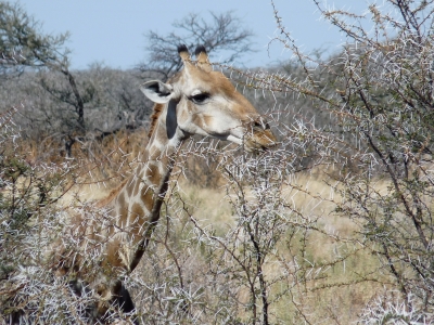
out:
{"label": "giraffe's brown-patched neck below the head, behind thorny twigs", "polygon": [[[113,202],[117,229],[108,245],[112,265],[131,272],[139,263],[152,231],[158,221],[175,156],[186,138],[170,119],[174,103],[164,107],[144,151],[143,161]],[[170,114],[173,109],[173,114]]]}

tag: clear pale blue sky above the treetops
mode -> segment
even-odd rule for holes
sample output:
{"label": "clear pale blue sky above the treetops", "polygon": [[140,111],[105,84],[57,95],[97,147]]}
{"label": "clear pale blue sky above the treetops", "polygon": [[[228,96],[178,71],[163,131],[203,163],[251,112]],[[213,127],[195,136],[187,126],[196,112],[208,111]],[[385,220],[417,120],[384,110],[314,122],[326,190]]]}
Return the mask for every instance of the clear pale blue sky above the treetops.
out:
{"label": "clear pale blue sky above the treetops", "polygon": [[[251,29],[255,53],[244,56],[246,67],[266,66],[291,57],[282,46],[267,44],[276,32],[270,0],[20,0],[27,13],[50,34],[71,32],[72,67],[86,68],[94,62],[114,68],[131,68],[145,60],[144,34],[174,30],[171,23],[190,12],[204,14],[229,10]],[[328,5],[362,13],[365,0],[329,0]],[[322,48],[335,52],[344,41],[335,27],[322,20],[311,0],[275,0],[283,24],[306,51]]]}

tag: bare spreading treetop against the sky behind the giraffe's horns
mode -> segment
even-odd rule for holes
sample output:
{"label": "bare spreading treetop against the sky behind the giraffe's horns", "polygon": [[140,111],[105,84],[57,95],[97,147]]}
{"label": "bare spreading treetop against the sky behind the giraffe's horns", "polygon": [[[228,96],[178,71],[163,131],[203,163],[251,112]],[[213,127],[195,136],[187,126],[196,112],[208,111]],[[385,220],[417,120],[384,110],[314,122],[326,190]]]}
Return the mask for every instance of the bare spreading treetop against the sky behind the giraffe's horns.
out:
{"label": "bare spreading treetop against the sky behind the giraffe's horns", "polygon": [[196,13],[190,13],[173,24],[176,31],[159,35],[149,31],[146,38],[146,62],[138,66],[141,72],[155,72],[167,79],[179,72],[182,63],[176,49],[186,44],[189,49],[204,46],[207,53],[218,57],[221,63],[239,62],[241,55],[253,52],[253,32],[242,26],[240,18],[233,12],[210,12],[210,22]]}

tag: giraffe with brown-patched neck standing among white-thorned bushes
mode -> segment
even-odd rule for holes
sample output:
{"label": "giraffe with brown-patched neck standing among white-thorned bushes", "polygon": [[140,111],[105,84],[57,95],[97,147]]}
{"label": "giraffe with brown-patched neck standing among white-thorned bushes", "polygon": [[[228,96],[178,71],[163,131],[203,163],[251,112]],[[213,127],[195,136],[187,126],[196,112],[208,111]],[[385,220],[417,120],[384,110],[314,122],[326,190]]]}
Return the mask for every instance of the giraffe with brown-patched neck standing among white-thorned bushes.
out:
{"label": "giraffe with brown-patched neck standing among white-thorned bushes", "polygon": [[[118,280],[119,274],[132,272],[145,251],[182,142],[200,134],[231,141],[250,152],[276,143],[268,123],[254,106],[222,73],[212,69],[204,47],[197,47],[195,61],[186,46],[178,47],[178,53],[183,63],[181,72],[166,83],[152,80],[141,87],[144,95],[155,103],[144,159],[118,190],[97,205],[116,220],[116,225],[107,226],[101,235],[106,239],[100,264],[110,270],[112,281],[97,291],[105,297],[104,301],[118,303],[125,312],[131,312],[133,303]],[[74,268],[79,274],[80,268]],[[66,273],[65,264],[63,269]],[[78,276],[86,278],[85,274]],[[106,309],[106,303],[99,304],[98,315],[103,315]]]}

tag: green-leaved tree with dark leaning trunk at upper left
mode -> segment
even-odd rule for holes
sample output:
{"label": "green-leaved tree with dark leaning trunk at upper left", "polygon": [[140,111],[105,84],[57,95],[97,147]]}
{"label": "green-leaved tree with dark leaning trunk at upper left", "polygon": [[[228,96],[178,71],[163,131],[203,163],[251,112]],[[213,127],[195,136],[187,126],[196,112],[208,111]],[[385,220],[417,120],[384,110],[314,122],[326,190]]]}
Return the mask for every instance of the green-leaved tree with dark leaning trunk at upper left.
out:
{"label": "green-leaved tree with dark leaning trunk at upper left", "polygon": [[[75,136],[84,136],[87,132],[85,105],[92,100],[94,91],[78,84],[77,76],[69,69],[69,50],[64,46],[69,35],[46,35],[40,29],[41,24],[20,4],[0,3],[0,72],[5,78],[26,68],[37,70],[38,83],[47,94],[72,108],[74,117],[67,122],[69,129],[62,133],[66,153],[71,156]],[[60,74],[63,80],[52,82],[53,74]]]}

